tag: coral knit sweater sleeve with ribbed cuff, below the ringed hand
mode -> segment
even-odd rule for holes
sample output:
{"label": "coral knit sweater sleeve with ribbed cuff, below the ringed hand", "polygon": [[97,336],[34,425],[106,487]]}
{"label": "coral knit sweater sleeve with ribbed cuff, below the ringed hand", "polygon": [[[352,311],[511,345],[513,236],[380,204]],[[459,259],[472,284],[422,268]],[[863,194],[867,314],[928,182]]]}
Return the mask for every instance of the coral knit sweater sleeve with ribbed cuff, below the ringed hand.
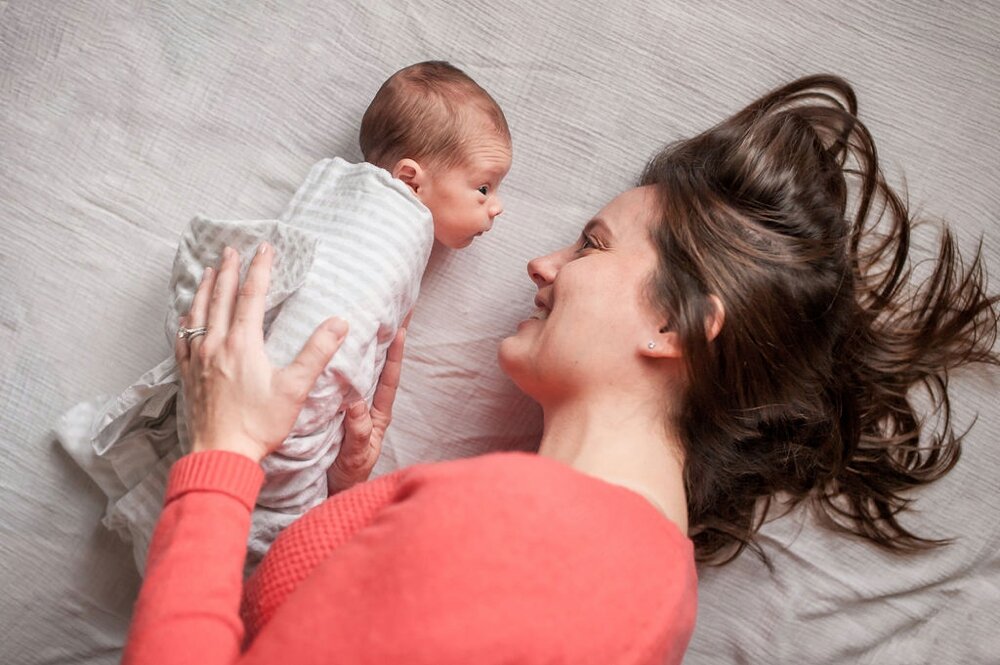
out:
{"label": "coral knit sweater sleeve with ribbed cuff, below the ringed hand", "polygon": [[235,662],[250,512],[260,467],[235,453],[187,455],[170,472],[122,662]]}

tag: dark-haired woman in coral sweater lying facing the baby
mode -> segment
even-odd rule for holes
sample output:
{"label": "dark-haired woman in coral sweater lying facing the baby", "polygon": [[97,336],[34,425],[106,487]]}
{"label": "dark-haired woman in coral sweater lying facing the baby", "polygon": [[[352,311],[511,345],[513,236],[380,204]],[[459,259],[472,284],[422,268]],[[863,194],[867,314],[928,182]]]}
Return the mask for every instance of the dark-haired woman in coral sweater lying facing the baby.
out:
{"label": "dark-haired woman in coral sweater lying facing the baby", "polygon": [[[777,493],[878,546],[939,544],[896,516],[957,460],[947,374],[997,363],[997,299],[947,232],[911,287],[910,228],[840,79],[796,81],[669,146],[576,244],[529,263],[537,310],[499,357],[543,408],[539,455],[337,494],[278,539],[242,620],[257,462],[345,326],[275,370],[271,251],[239,298],[227,256],[184,324],[207,334],[177,346],[196,452],[171,472],[126,662],[676,663],[695,559],[754,548]],[[371,418],[353,413],[345,487],[377,455],[401,345]],[[923,447],[920,383],[945,415]]]}

